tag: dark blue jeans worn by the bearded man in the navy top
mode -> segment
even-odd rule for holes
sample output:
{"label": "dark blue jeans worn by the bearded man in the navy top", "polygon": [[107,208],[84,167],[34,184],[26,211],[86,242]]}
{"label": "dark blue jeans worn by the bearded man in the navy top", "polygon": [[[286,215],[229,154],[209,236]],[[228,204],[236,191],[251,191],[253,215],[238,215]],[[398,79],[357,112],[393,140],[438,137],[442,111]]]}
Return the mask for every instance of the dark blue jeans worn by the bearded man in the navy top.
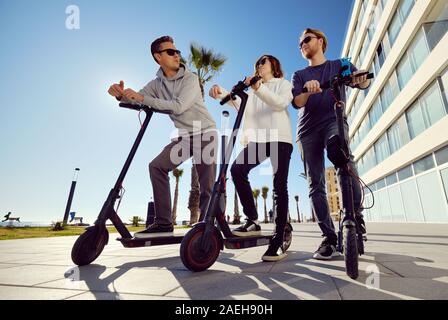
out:
{"label": "dark blue jeans worn by the bearded man in the navy top", "polygon": [[[346,136],[348,125],[344,123]],[[325,161],[324,150],[326,149],[328,139],[334,135],[338,135],[338,127],[336,121],[331,121],[323,126],[320,130],[316,130],[299,140],[299,148],[302,152],[302,158],[305,163],[306,175],[308,177],[309,197],[311,200],[311,210],[315,214],[320,229],[324,236],[328,237],[331,242],[337,239],[333,221],[330,217],[328,208],[327,194],[325,188]],[[358,175],[356,165],[353,161],[353,155],[350,151],[349,167],[352,172]],[[340,190],[342,193],[342,203],[344,208],[347,206],[349,179],[351,179],[347,170],[336,168]],[[361,208],[361,188],[358,181],[352,179],[352,190],[355,212],[360,213]]]}

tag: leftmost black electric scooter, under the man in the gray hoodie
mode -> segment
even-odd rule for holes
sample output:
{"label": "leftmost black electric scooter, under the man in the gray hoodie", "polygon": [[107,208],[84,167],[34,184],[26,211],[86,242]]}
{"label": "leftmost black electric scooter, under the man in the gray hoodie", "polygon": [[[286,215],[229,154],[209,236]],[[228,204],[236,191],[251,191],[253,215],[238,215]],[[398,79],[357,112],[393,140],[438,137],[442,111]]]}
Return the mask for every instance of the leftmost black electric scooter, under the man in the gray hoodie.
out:
{"label": "leftmost black electric scooter, under the man in the gray hoodie", "polygon": [[[126,248],[135,247],[145,247],[145,246],[157,246],[166,244],[176,244],[182,241],[183,236],[169,236],[169,237],[152,237],[152,238],[134,238],[126,226],[121,221],[117,214],[118,207],[123,194],[121,193],[122,184],[124,178],[128,172],[131,162],[134,158],[135,153],[142,141],[143,135],[145,134],[146,128],[151,120],[154,113],[171,114],[171,111],[159,111],[152,109],[145,105],[133,105],[120,103],[120,107],[128,108],[136,111],[143,111],[146,113],[145,120],[140,128],[140,131],[135,139],[134,145],[126,159],[126,162],[121,170],[121,173],[115,183],[115,186],[110,191],[104,205],[98,215],[95,224],[86,229],[86,231],[79,236],[72,248],[72,260],[75,264],[79,266],[88,265],[92,263],[103,251],[104,246],[109,242],[109,233],[106,228],[106,221],[111,220],[117,231],[120,233],[121,241]],[[117,209],[115,209],[115,204],[117,203]]]}

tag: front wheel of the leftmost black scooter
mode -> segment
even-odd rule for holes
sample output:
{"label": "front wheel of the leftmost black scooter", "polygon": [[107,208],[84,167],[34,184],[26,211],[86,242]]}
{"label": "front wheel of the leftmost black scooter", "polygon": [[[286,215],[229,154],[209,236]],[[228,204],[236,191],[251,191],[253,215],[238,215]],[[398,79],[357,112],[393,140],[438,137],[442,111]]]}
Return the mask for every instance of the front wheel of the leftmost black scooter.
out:
{"label": "front wheel of the leftmost black scooter", "polygon": [[[99,234],[101,232],[101,234]],[[90,227],[76,240],[72,248],[72,261],[78,266],[92,263],[109,242],[106,228]]]}

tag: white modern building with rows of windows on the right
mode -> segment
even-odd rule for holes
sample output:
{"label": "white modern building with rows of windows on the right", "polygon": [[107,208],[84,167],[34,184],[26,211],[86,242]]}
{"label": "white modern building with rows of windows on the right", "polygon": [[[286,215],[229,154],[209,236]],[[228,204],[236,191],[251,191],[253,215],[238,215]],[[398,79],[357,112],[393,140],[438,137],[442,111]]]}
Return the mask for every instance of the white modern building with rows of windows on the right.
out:
{"label": "white modern building with rows of windows on the right", "polygon": [[342,56],[375,74],[347,91],[365,218],[447,223],[448,0],[354,1]]}

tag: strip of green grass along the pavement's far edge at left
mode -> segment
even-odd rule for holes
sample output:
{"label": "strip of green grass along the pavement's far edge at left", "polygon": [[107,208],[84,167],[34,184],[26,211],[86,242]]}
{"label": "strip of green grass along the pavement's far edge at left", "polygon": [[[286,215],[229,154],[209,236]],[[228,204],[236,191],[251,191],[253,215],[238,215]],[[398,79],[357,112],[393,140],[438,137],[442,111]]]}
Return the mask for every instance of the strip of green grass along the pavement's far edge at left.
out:
{"label": "strip of green grass along the pavement's far edge at left", "polygon": [[[11,228],[0,227],[0,240],[14,240],[14,239],[29,239],[29,238],[52,238],[52,237],[66,237],[77,236],[84,232],[86,227],[65,227],[61,231],[52,231],[51,227],[30,227],[30,228]],[[145,227],[127,226],[129,232],[141,231]],[[175,226],[178,228],[188,228],[187,226]],[[107,227],[109,233],[117,233],[115,227]]]}

